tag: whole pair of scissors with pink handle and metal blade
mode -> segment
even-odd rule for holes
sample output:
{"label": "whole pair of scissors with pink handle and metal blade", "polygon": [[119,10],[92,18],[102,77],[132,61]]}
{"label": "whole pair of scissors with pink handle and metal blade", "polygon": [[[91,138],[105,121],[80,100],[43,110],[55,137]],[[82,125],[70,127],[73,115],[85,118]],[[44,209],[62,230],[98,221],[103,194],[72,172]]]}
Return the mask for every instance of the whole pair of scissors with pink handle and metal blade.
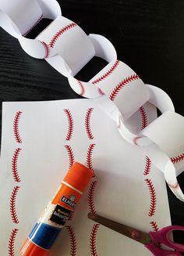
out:
{"label": "whole pair of scissors with pink handle and metal blade", "polygon": [[[168,235],[169,233],[172,233],[173,230],[184,231],[184,226],[170,225],[157,232],[144,233],[138,229],[133,229],[128,225],[122,225],[118,222],[111,221],[108,218],[101,217],[100,215],[89,213],[87,216],[94,222],[98,222],[109,229],[113,229],[124,236],[128,236],[137,242],[143,243],[154,256],[183,255],[184,244],[173,243],[169,240]],[[166,245],[175,251],[166,251],[161,248],[161,244]]]}

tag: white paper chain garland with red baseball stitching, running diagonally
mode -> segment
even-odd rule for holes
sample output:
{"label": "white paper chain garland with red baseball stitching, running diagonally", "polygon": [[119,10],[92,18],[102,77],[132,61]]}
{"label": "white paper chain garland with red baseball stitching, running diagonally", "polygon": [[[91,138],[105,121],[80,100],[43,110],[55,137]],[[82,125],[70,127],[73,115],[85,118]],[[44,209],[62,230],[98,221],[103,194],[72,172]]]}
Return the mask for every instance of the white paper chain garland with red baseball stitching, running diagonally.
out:
{"label": "white paper chain garland with red baseball stitching, running diagonally", "polygon": [[[43,18],[53,21],[37,38],[25,38]],[[94,99],[115,121],[122,137],[144,150],[152,163],[163,171],[172,192],[184,201],[170,159],[184,153],[184,117],[175,113],[172,100],[165,92],[153,85],[145,85],[126,63],[118,60],[115,48],[107,38],[99,34],[87,36],[76,23],[63,17],[56,0],[1,1],[0,25],[19,40],[30,56],[45,59],[67,77],[76,93]],[[88,82],[76,80],[74,76],[94,56],[105,59],[108,65]],[[126,128],[125,121],[147,102],[157,106],[161,116],[135,135]],[[65,114],[69,118],[67,110]],[[72,135],[71,121],[69,128],[68,139]],[[19,141],[16,125],[14,132]],[[87,135],[89,138],[93,136],[89,128]]]}

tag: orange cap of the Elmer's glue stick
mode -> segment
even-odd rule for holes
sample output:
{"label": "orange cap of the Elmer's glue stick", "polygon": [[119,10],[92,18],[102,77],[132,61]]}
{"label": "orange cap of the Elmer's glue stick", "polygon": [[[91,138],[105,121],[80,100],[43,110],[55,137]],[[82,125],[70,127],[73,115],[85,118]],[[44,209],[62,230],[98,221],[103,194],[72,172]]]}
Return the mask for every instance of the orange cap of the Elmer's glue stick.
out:
{"label": "orange cap of the Elmer's glue stick", "polygon": [[87,189],[90,178],[93,177],[94,172],[83,164],[74,163],[65,175],[63,182],[68,183],[70,186],[80,190],[82,193]]}

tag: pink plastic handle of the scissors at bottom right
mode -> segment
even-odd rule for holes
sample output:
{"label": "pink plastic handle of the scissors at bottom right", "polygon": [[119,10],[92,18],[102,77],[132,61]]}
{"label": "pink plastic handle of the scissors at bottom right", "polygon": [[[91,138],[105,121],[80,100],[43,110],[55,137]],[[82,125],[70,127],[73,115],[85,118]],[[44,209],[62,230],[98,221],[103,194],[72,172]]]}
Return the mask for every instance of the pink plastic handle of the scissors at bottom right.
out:
{"label": "pink plastic handle of the scissors at bottom right", "polygon": [[[145,245],[155,256],[172,256],[172,255],[182,255],[180,252],[184,251],[184,244],[174,243],[169,239],[169,233],[174,230],[183,230],[184,226],[180,225],[170,225],[161,229],[158,232],[150,232],[150,238],[152,243]],[[157,243],[162,243],[176,251],[164,251],[157,246]]]}

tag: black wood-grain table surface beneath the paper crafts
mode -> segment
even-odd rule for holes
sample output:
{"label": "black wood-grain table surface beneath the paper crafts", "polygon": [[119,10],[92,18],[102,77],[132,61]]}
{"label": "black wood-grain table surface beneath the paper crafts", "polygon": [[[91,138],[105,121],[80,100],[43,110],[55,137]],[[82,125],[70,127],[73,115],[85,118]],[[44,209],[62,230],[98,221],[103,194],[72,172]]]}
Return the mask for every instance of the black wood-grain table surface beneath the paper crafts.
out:
{"label": "black wood-grain table surface beneath the paper crafts", "polygon": [[[115,45],[119,59],[132,67],[145,83],[164,89],[171,96],[176,112],[184,115],[183,0],[58,2],[63,16],[78,23],[87,34],[107,37]],[[104,62],[93,59],[78,78],[87,81],[101,67]],[[0,29],[1,102],[74,98],[79,96],[66,78],[46,61],[28,56],[15,38]],[[184,172],[179,182],[184,190]],[[169,189],[168,199],[172,224],[184,225],[184,204]],[[181,233],[175,238],[184,240]]]}

